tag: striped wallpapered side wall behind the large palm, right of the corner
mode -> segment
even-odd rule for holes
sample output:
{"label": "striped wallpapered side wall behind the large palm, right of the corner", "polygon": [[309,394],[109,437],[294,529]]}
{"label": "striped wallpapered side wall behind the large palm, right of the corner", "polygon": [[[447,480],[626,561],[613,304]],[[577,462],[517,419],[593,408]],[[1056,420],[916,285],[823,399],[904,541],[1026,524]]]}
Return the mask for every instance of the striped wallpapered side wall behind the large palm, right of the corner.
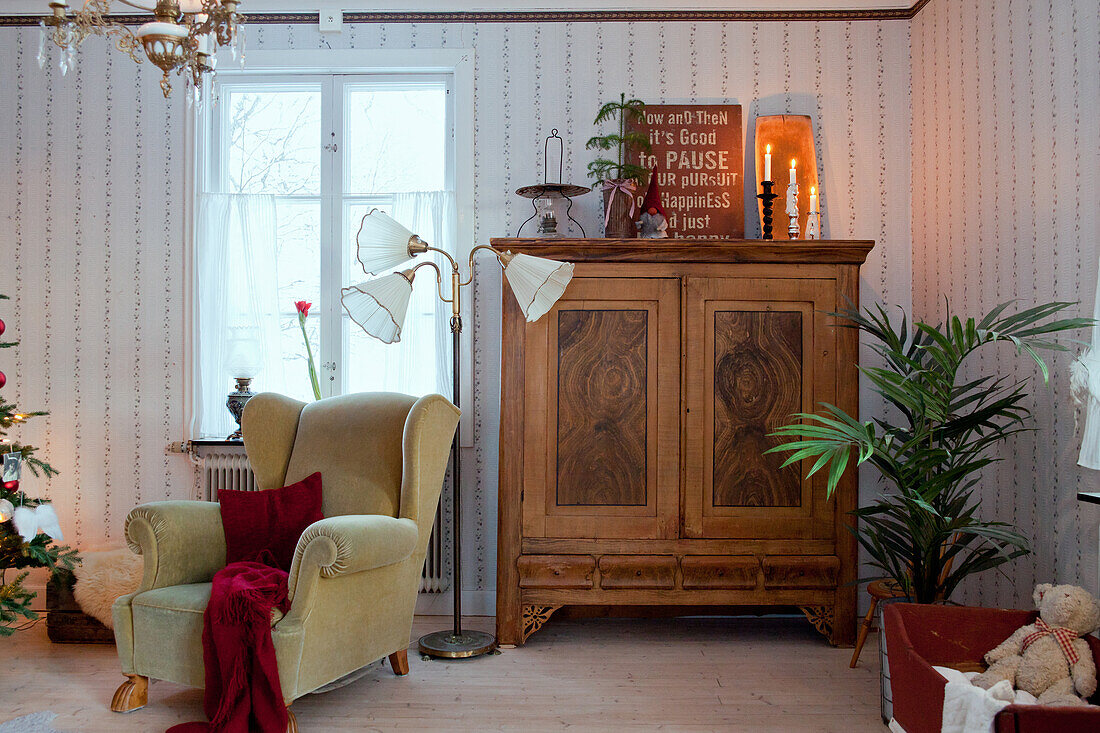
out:
{"label": "striped wallpapered side wall behind the large palm, right of the corner", "polygon": [[[1091,315],[1100,210],[1100,6],[1094,0],[933,0],[913,21],[913,306],[936,320],[945,300],[979,315],[1081,300]],[[1082,338],[1088,338],[1082,335]],[[1097,591],[1100,510],[1078,468],[1071,354],[1033,385],[1037,431],[1007,446],[981,484],[982,511],[1019,524],[1035,553],[970,582],[970,602],[1030,602],[1034,583]],[[974,364],[1025,379],[1037,368],[1011,349]]]}

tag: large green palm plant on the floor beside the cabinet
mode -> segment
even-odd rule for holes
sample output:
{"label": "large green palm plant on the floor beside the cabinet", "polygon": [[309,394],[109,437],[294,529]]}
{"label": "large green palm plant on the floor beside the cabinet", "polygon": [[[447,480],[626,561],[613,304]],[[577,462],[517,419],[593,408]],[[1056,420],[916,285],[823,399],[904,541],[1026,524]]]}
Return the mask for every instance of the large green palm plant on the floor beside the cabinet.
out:
{"label": "large green palm plant on the floor beside the cabinet", "polygon": [[[881,366],[860,366],[871,389],[893,407],[860,423],[828,404],[818,414],[772,435],[787,439],[769,452],[789,452],[783,466],[814,459],[809,474],[828,468],[827,492],[850,466],[873,466],[887,491],[853,514],[853,529],[870,565],[917,603],[946,601],[968,576],[1031,551],[1013,526],[979,516],[981,471],[1000,460],[994,449],[1030,430],[1030,379],[978,375],[967,359],[994,343],[1009,343],[1035,361],[1048,381],[1043,350],[1064,351],[1056,335],[1092,325],[1064,318],[1071,303],[1048,303],[1005,315],[1011,303],[981,319],[948,314],[942,325],[891,322],[882,306],[832,314],[839,326],[870,337]],[[865,579],[870,580],[870,578]]]}

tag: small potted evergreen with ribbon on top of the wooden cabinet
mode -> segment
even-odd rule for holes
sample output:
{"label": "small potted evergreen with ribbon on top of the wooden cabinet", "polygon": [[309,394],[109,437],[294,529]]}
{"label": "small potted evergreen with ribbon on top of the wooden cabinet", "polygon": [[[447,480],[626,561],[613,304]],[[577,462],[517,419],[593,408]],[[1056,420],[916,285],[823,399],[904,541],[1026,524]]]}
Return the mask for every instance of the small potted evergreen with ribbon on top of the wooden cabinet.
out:
{"label": "small potted evergreen with ribbon on top of the wooden cabinet", "polygon": [[615,160],[597,157],[588,163],[588,176],[596,179],[596,186],[604,190],[604,236],[629,239],[637,236],[634,226],[634,194],[649,175],[645,167],[630,163],[627,151],[650,152],[649,139],[639,132],[629,132],[627,121],[640,122],[645,119],[646,103],[640,99],[627,99],[619,95],[618,101],[610,101],[600,108],[595,125],[615,120],[618,131],[607,135],[591,138],[585,145],[588,150],[615,151]]}

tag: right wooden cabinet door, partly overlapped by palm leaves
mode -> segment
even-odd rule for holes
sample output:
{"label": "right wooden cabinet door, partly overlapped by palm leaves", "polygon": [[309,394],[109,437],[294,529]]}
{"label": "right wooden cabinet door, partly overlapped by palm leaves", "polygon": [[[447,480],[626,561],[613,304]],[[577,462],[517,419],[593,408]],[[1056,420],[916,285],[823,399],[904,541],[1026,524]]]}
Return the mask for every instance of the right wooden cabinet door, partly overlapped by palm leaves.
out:
{"label": "right wooden cabinet door, partly overlapped by palm leaves", "polygon": [[766,453],[780,425],[834,402],[833,280],[688,278],[688,537],[834,536],[824,477]]}

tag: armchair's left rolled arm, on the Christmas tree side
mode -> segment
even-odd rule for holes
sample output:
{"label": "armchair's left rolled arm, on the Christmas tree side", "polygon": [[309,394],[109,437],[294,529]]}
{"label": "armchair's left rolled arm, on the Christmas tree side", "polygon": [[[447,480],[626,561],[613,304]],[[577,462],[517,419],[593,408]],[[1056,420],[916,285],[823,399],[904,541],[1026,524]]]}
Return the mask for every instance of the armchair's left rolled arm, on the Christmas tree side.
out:
{"label": "armchair's left rolled arm, on the Christmas tree side", "polygon": [[127,544],[145,559],[138,592],[207,582],[226,567],[217,502],[151,502],[127,516]]}

